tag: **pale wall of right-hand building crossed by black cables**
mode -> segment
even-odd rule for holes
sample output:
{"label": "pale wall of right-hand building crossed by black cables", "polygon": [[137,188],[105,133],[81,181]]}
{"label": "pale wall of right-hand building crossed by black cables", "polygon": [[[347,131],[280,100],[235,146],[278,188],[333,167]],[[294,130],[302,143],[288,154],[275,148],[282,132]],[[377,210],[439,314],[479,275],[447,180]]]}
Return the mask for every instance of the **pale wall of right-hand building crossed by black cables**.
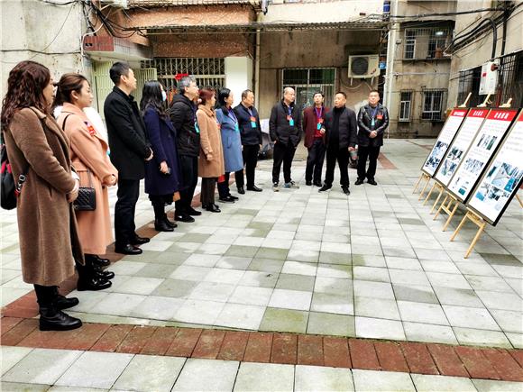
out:
{"label": "pale wall of right-hand building crossed by black cables", "polygon": [[[457,10],[473,8],[486,8],[491,5],[487,0],[460,0],[457,3]],[[523,8],[519,7],[514,14],[509,17],[507,23],[507,40],[505,44],[505,54],[509,54],[518,50],[523,50]],[[518,14],[519,13],[519,14]],[[482,13],[482,14],[467,14],[458,15],[456,17],[456,32],[461,32],[465,26],[470,25],[481,18],[486,18],[491,15],[500,13]],[[477,24],[477,23],[476,23]],[[475,26],[475,24],[474,24]],[[468,30],[467,30],[468,31]],[[496,57],[501,55],[502,43],[502,25],[498,27],[498,40],[496,43]],[[492,52],[492,32],[482,35],[477,41],[469,44],[466,48],[457,50],[453,54],[451,66],[451,80],[449,83],[449,97],[450,102],[454,105],[458,94],[459,72],[461,70],[476,68],[481,66],[486,61],[491,59]]]}

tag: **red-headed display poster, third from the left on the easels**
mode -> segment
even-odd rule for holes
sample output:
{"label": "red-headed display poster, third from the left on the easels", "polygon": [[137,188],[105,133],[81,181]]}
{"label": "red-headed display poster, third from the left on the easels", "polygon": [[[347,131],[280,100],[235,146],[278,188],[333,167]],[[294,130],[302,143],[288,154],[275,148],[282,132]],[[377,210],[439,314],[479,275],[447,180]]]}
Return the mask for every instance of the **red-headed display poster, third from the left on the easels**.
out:
{"label": "red-headed display poster, third from the left on the easels", "polygon": [[461,202],[466,202],[471,196],[474,186],[500,146],[516,114],[518,110],[491,109],[491,113],[487,115],[447,188]]}

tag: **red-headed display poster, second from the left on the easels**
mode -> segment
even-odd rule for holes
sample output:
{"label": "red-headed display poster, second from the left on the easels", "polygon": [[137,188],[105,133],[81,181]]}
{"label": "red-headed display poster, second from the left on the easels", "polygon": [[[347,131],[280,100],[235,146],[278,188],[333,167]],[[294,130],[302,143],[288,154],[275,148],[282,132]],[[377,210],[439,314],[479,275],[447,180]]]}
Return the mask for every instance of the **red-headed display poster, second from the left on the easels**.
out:
{"label": "red-headed display poster, second from the left on the easels", "polygon": [[434,176],[436,181],[444,187],[448,186],[455,170],[463,160],[466,150],[471,146],[474,136],[480,130],[487,114],[489,114],[489,110],[481,108],[471,109],[464,119]]}

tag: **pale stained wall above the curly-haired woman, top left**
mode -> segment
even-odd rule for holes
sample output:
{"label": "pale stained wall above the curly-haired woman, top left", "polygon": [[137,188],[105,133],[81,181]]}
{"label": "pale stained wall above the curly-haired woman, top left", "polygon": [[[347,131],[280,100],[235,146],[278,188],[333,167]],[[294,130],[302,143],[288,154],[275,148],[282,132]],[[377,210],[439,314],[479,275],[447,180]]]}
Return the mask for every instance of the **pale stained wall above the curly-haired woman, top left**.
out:
{"label": "pale stained wall above the curly-haired woman, top left", "polygon": [[[50,68],[56,80],[66,72],[82,72],[90,77],[90,64],[83,62],[80,56],[80,40],[85,31],[80,5],[4,0],[0,1],[0,18],[0,96],[5,96],[9,71],[25,59]],[[62,23],[63,28],[60,28]],[[39,54],[37,51],[56,54]]]}

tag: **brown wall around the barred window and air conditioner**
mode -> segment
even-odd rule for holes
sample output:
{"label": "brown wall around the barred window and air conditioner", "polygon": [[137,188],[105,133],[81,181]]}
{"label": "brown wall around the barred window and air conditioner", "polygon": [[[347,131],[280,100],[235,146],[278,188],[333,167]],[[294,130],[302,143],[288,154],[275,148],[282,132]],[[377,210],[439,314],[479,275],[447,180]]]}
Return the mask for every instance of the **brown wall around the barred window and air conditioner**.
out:
{"label": "brown wall around the barred window and air conditioner", "polygon": [[[281,98],[282,68],[336,68],[335,90],[347,94],[347,105],[361,105],[371,89],[371,80],[353,79],[351,86],[347,77],[348,57],[377,54],[379,39],[379,32],[332,30],[261,34],[260,102],[257,104],[261,117],[268,117],[272,105]],[[373,82],[372,87],[377,87],[377,78]]]}

